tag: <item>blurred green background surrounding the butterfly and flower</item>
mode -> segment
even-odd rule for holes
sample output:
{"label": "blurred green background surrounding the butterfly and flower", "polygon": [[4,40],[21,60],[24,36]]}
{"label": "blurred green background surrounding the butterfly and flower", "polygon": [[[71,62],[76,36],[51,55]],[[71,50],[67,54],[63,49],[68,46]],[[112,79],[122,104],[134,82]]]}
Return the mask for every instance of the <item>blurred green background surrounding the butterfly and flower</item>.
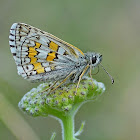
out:
{"label": "blurred green background surrounding the butterfly and flower", "polygon": [[140,139],[140,1],[139,0],[0,0],[0,140],[49,140],[61,127],[50,117],[32,118],[18,102],[39,83],[18,76],[9,49],[9,30],[23,22],[48,31],[83,52],[103,55],[94,76],[106,86],[96,102],[81,107],[75,116],[76,130],[86,120],[81,140]]}

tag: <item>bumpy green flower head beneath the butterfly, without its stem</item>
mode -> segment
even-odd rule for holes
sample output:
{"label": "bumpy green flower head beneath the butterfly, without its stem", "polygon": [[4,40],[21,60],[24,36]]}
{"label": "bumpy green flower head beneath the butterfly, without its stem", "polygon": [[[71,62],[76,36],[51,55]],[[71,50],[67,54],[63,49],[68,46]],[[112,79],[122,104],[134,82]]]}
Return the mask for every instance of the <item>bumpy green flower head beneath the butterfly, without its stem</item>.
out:
{"label": "bumpy green flower head beneath the butterfly, without its stem", "polygon": [[34,117],[54,115],[54,112],[67,114],[77,103],[85,103],[97,99],[105,91],[105,86],[101,82],[97,82],[85,77],[76,91],[75,83],[65,84],[56,89],[51,94],[44,92],[52,83],[40,84],[37,88],[33,88],[26,93],[18,106],[21,110]]}

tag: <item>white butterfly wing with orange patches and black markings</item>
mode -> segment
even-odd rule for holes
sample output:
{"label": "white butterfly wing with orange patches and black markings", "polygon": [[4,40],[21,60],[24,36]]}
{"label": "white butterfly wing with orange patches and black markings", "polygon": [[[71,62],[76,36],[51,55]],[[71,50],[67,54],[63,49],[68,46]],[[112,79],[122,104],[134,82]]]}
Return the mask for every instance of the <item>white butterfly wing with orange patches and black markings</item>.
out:
{"label": "white butterfly wing with orange patches and black markings", "polygon": [[28,24],[14,23],[9,44],[18,74],[31,81],[63,79],[83,52]]}

